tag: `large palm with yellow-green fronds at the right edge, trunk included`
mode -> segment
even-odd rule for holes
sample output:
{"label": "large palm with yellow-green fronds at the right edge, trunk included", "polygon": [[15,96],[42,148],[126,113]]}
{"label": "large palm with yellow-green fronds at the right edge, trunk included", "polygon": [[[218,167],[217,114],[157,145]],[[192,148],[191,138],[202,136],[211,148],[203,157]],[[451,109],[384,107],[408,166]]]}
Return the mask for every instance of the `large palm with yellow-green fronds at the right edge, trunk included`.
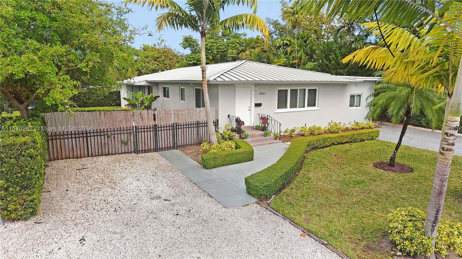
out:
{"label": "large palm with yellow-green fronds at the right edge, trunk included", "polygon": [[[325,13],[328,18],[375,17],[377,35],[383,46],[370,47],[356,60],[389,72],[391,82],[408,82],[413,87],[433,86],[446,90],[441,144],[427,208],[425,235],[435,246],[438,224],[443,211],[450,166],[462,115],[462,47],[459,1],[436,0],[304,0],[305,13]],[[394,24],[388,32],[380,26]],[[390,25],[391,26],[391,25]],[[366,54],[367,53],[367,54]],[[434,259],[432,253],[430,258]]]}

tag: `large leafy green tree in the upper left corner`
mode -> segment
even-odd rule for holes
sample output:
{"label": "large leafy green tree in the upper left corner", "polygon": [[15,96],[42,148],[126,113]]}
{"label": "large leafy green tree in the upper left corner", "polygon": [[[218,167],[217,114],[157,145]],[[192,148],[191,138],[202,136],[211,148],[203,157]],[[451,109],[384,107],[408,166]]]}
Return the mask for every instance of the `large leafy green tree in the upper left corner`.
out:
{"label": "large leafy green tree in the upper left corner", "polygon": [[62,110],[80,85],[126,78],[133,61],[127,12],[98,0],[0,0],[1,94],[28,118],[39,95]]}

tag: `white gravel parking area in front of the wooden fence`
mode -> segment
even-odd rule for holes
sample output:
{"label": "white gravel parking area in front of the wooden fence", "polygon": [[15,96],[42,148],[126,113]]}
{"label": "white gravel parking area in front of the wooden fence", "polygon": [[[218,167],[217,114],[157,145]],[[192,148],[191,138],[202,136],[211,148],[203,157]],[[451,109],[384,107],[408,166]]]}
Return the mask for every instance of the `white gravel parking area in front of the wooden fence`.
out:
{"label": "white gravel parking area in front of the wooden fence", "polygon": [[340,258],[257,204],[226,209],[157,153],[46,173],[39,214],[0,228],[0,258]]}

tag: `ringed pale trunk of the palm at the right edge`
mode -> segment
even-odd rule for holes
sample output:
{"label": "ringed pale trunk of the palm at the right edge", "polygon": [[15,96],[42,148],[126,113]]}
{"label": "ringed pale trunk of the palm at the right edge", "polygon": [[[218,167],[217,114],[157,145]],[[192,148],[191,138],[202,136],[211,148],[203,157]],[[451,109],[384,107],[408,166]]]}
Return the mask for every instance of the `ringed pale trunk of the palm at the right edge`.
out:
{"label": "ringed pale trunk of the palm at the right edge", "polygon": [[[424,228],[425,235],[433,237],[433,247],[435,246],[438,224],[443,212],[444,196],[446,195],[454,146],[456,145],[457,131],[459,130],[462,115],[462,60],[451,99],[449,109],[447,109],[447,119],[443,127],[443,143],[440,145],[438,153]],[[430,258],[435,259],[435,254],[432,253]]]}

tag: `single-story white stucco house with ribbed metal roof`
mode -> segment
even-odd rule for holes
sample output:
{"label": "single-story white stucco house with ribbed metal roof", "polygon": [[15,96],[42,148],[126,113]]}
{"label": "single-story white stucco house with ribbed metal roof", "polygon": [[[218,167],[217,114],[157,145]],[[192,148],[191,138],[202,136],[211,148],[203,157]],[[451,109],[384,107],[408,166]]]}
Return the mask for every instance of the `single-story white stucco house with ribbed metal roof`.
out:
{"label": "single-story white stucco house with ribbed metal roof", "polygon": [[[244,125],[259,124],[258,114],[267,114],[281,128],[311,125],[326,126],[331,121],[365,121],[366,98],[378,77],[334,76],[252,61],[207,65],[211,106],[219,124],[228,115],[237,116]],[[204,107],[201,67],[161,71],[123,82],[122,97],[128,92],[154,93],[160,98],[153,108],[185,109]]]}

